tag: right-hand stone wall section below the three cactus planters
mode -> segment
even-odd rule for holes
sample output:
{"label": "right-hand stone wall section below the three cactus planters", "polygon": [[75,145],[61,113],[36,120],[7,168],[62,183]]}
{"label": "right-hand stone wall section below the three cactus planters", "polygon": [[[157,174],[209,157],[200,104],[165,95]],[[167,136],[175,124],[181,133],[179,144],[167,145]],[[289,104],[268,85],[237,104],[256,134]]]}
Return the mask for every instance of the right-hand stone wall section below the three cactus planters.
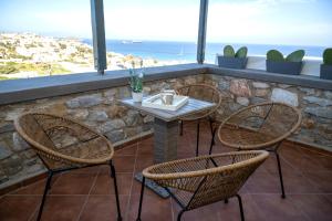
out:
{"label": "right-hand stone wall section below the three cactus planters", "polygon": [[332,91],[210,74],[206,75],[206,83],[218,86],[222,93],[220,118],[248,105],[283,102],[302,112],[301,130],[291,139],[332,150]]}

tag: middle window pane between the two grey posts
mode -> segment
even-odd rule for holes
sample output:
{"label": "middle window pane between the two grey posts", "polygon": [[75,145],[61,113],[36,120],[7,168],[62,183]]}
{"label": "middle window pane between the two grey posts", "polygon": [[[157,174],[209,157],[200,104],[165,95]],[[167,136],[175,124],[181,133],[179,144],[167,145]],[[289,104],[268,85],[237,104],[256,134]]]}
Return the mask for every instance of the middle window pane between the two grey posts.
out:
{"label": "middle window pane between the two grey posts", "polygon": [[108,70],[196,62],[199,0],[104,0],[104,13]]}

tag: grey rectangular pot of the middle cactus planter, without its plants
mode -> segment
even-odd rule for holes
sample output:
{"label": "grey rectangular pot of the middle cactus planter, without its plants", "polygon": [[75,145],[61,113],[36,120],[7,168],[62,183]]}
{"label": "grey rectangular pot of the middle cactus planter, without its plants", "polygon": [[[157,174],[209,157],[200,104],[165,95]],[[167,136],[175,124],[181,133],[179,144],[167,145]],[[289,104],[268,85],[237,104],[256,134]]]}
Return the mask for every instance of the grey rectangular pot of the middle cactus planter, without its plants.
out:
{"label": "grey rectangular pot of the middle cactus planter, without its plants", "polygon": [[267,72],[299,75],[302,71],[303,62],[274,62],[267,60]]}

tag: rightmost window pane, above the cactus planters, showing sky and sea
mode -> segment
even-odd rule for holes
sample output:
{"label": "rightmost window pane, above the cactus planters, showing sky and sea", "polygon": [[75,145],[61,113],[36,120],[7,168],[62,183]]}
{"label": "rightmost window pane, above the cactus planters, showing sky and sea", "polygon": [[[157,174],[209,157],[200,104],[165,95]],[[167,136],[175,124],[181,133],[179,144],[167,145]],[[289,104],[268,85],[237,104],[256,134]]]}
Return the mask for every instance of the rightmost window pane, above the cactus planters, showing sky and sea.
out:
{"label": "rightmost window pane, above the cactus planters, showing sky and sea", "polygon": [[215,63],[226,44],[246,45],[249,55],[303,49],[321,56],[332,45],[331,9],[330,0],[210,0],[206,62]]}

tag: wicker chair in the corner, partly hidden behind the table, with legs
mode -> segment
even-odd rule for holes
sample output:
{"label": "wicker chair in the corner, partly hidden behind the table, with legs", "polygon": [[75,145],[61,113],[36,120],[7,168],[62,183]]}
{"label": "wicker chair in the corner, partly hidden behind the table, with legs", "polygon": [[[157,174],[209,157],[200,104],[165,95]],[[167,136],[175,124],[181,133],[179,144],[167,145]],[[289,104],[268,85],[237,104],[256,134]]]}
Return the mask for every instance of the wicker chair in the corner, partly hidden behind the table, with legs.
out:
{"label": "wicker chair in the corner, partly hidden behind the table, with legs", "polygon": [[[218,88],[206,84],[191,84],[179,87],[176,90],[177,94],[189,96],[197,99],[203,99],[207,102],[212,102],[216,104],[214,108],[195,113],[180,118],[180,135],[183,135],[183,124],[184,122],[197,122],[196,127],[196,156],[198,156],[198,144],[199,144],[199,123],[203,119],[208,119],[210,125],[210,130],[212,134],[212,125],[215,123],[214,113],[221,105],[221,94]],[[214,139],[212,139],[214,143]]]}

